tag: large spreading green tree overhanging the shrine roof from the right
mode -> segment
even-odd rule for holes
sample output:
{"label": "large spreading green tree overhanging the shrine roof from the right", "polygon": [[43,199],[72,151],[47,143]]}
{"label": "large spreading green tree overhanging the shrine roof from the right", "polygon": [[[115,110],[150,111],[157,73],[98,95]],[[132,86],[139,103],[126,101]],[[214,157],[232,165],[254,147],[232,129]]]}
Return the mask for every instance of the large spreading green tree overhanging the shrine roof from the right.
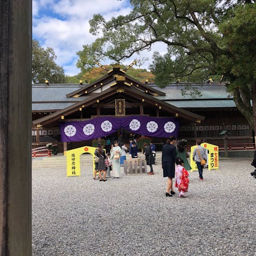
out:
{"label": "large spreading green tree overhanging the shrine roof from the right", "polygon": [[[220,78],[225,72],[231,81],[227,90],[234,94],[237,108],[253,127],[256,109],[251,108],[249,99],[256,95],[255,2],[130,0],[130,3],[133,10],[126,16],[109,21],[101,15],[93,16],[90,32],[102,36],[83,46],[78,52],[77,66],[87,68],[95,60],[105,58],[120,62],[150,49],[155,42],[164,42],[167,53],[155,52],[150,66],[160,87],[177,78],[204,81],[212,75]],[[235,31],[231,24],[235,25]],[[248,53],[250,62],[244,65]]]}

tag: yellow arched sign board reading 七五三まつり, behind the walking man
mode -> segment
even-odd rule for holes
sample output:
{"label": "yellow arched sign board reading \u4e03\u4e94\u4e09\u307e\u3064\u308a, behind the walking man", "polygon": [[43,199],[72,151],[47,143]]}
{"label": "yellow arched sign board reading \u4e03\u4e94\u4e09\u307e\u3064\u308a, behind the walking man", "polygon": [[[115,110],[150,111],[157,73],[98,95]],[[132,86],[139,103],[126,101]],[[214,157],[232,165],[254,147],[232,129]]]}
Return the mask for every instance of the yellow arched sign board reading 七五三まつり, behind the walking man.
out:
{"label": "yellow arched sign board reading \u4e03\u4e94\u4e09\u307e\u3064\u308a, behind the walking man", "polygon": [[[208,169],[209,170],[219,169],[219,147],[209,143],[202,143],[201,146],[205,148],[208,152],[207,154]],[[193,152],[195,148],[196,148],[196,145],[191,147],[191,154],[190,154],[191,172],[193,172],[193,170],[197,170],[196,163],[193,161]]]}

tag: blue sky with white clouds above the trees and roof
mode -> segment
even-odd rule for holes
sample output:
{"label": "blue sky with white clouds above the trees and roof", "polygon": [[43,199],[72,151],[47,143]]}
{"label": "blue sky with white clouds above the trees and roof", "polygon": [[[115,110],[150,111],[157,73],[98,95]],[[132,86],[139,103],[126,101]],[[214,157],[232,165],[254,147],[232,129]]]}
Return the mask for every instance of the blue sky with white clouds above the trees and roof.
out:
{"label": "blue sky with white clouds above the trees and roof", "polygon": [[[76,52],[96,39],[89,33],[92,16],[101,13],[109,20],[130,11],[129,0],[33,0],[33,39],[37,39],[44,48],[54,49],[56,63],[64,68],[66,75],[77,75],[80,70],[76,67]],[[148,68],[154,50],[162,52],[163,46],[156,45],[150,53],[141,53],[141,58],[149,57],[142,68]],[[130,64],[135,58],[137,56],[124,64]]]}

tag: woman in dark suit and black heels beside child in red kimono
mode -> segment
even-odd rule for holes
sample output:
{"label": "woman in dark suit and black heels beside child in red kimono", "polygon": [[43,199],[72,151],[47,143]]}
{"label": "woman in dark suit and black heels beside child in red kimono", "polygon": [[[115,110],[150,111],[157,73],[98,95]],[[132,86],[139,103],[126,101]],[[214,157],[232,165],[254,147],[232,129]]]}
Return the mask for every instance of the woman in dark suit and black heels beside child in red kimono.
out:
{"label": "woman in dark suit and black heels beside child in red kimono", "polygon": [[162,149],[162,168],[163,177],[168,177],[166,196],[172,196],[175,194],[173,189],[173,178],[175,177],[175,160],[176,160],[176,147],[175,144],[176,137],[170,136],[167,139],[166,144]]}

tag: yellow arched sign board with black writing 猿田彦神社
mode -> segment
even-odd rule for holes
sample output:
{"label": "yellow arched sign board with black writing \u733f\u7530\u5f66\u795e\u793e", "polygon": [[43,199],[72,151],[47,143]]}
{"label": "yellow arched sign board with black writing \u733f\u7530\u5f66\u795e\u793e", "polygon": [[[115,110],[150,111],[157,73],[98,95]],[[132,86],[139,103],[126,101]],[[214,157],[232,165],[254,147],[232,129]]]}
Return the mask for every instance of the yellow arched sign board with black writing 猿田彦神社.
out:
{"label": "yellow arched sign board with black writing \u733f\u7530\u5f66\u795e\u793e", "polygon": [[94,163],[94,152],[95,147],[84,146],[81,148],[76,148],[66,151],[66,161],[67,161],[67,177],[80,176],[80,155],[83,153],[89,153],[92,157],[93,172],[95,172]]}

